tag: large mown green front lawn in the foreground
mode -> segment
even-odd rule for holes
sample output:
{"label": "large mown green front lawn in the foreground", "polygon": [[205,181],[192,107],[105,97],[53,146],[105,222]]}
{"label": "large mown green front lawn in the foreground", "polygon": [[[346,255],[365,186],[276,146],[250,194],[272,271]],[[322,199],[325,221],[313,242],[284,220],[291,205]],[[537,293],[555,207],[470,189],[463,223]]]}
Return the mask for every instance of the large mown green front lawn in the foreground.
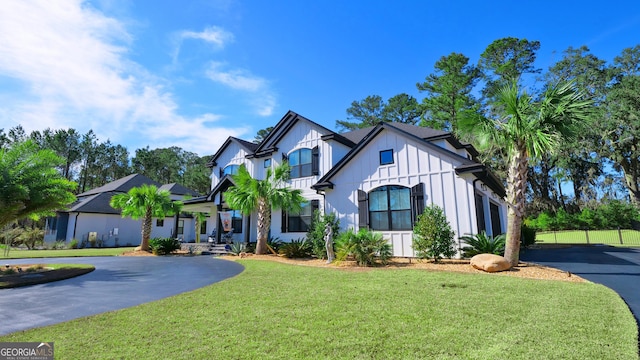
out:
{"label": "large mown green front lawn in the foreground", "polygon": [[631,312],[593,283],[242,263],[196,291],[0,341],[54,341],[59,359],[638,358]]}

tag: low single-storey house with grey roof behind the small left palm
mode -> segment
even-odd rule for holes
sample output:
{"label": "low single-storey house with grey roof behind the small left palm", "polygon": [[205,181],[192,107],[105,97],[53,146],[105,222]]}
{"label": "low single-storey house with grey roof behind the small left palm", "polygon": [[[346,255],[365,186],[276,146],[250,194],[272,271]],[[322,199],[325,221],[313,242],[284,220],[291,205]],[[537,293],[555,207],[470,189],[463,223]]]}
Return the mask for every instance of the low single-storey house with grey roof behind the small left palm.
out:
{"label": "low single-storey house with grey roof behind the small left palm", "polygon": [[[132,174],[79,194],[76,202],[68,209],[56,212],[55,217],[47,218],[45,242],[69,242],[76,239],[78,242],[85,242],[85,245],[93,241],[96,242],[96,246],[139,245],[142,220],[123,218],[120,210],[112,208],[109,202],[113,195],[126,193],[131,188],[144,184],[168,190],[172,200],[198,196],[198,193],[182,185],[161,185],[144,175]],[[177,233],[179,238],[186,241],[195,240],[193,218],[181,216],[154,218],[151,237],[170,237]],[[206,227],[204,233],[206,234]]]}

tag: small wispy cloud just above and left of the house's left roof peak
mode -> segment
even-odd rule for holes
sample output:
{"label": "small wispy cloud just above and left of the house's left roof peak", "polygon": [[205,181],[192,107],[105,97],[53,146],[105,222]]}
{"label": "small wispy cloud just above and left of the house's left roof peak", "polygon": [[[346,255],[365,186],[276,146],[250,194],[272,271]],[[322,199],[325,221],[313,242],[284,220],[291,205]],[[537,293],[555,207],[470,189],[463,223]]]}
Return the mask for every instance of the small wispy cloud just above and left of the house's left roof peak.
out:
{"label": "small wispy cloud just above and left of the house's left roof peak", "polygon": [[249,93],[249,103],[254,107],[255,113],[260,116],[271,116],[277,102],[268,82],[264,78],[252,75],[248,70],[225,70],[225,67],[224,63],[211,62],[206,70],[206,76],[211,81]]}

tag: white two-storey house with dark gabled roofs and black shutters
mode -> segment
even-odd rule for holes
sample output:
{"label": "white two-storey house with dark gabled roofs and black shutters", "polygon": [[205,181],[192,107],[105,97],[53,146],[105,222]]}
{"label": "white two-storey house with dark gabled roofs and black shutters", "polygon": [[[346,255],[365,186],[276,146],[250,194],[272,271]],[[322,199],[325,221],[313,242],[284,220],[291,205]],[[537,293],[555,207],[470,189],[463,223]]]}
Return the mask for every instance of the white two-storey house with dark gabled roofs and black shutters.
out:
{"label": "white two-storey house with dark gabled roofs and black shutters", "polygon": [[[505,190],[477,161],[478,153],[451,133],[402,123],[381,123],[347,133],[331,131],[293,111],[254,144],[230,137],[211,157],[212,190],[187,200],[185,209],[206,211],[220,229],[220,211],[233,211],[222,194],[244,164],[254,178],[288,161],[288,186],[308,204],[298,214],[272,213],[271,236],[304,238],[312,213],[333,212],[342,230],[381,232],[394,256],[414,256],[413,224],[425,206],[443,208],[456,237],[505,231]],[[255,214],[233,212],[234,239],[256,241]],[[213,225],[213,224],[212,224]]]}

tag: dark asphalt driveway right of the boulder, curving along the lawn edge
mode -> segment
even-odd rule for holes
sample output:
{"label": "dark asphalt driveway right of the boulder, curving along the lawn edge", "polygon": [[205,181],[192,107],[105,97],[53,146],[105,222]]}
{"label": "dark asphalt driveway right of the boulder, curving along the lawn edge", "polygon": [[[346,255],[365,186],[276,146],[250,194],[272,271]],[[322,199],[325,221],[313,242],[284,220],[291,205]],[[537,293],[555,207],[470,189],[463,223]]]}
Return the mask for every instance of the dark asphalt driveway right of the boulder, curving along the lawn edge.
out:
{"label": "dark asphalt driveway right of the boulder, curving along the lawn edge", "polygon": [[570,271],[613,289],[640,324],[640,249],[612,246],[529,249],[520,259]]}

